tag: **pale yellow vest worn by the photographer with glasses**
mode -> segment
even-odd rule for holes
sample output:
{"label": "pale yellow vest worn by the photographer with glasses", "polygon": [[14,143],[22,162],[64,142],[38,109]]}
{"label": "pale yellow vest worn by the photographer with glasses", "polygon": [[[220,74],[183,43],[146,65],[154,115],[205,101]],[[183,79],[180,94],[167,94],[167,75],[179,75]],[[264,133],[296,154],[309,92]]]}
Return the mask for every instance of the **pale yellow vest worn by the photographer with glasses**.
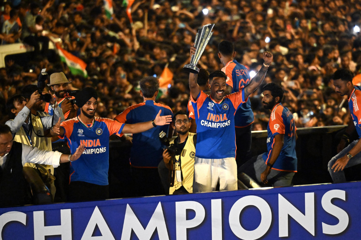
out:
{"label": "pale yellow vest worn by the photographer with glasses", "polygon": [[[190,132],[188,134],[188,139],[181,153],[181,167],[179,167],[178,162],[175,164],[175,169],[182,171],[183,180],[182,182],[178,182],[177,176],[173,176],[174,186],[169,188],[169,194],[173,194],[173,192],[179,189],[181,186],[183,186],[188,191],[188,193],[193,193],[194,157],[196,152],[193,139],[195,133]],[[173,143],[174,140],[170,142],[170,144]],[[175,159],[178,160],[179,155],[175,156]]]}

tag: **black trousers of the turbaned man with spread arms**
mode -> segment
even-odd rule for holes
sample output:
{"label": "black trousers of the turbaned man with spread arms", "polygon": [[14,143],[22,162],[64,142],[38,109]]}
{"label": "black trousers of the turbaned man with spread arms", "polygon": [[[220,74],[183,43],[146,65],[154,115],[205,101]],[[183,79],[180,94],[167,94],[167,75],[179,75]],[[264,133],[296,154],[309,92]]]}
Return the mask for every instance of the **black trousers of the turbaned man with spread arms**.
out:
{"label": "black trousers of the turbaned man with spread arms", "polygon": [[69,184],[68,201],[96,201],[109,198],[109,185],[74,181]]}

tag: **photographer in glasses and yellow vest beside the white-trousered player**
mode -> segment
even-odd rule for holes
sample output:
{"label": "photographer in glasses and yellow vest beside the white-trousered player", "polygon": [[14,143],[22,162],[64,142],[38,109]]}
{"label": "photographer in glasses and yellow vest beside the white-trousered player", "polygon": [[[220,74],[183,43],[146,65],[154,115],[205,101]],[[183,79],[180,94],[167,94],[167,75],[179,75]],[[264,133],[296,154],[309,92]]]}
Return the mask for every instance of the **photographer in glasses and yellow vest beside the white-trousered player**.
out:
{"label": "photographer in glasses and yellow vest beside the white-trousered player", "polygon": [[[169,194],[192,193],[197,135],[189,132],[191,122],[187,113],[183,111],[174,114],[172,126],[177,131],[178,137],[171,141],[170,147],[163,152],[165,166],[170,171]],[[175,149],[175,152],[172,153],[170,148],[172,151]]]}

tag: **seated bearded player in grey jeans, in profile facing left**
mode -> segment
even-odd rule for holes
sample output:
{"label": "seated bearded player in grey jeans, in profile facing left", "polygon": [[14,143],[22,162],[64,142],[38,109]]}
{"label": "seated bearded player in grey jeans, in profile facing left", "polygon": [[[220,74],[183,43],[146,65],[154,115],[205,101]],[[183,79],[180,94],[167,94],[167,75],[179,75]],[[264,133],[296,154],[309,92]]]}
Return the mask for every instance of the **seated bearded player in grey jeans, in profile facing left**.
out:
{"label": "seated bearded player in grey jeans, in profile facing left", "polygon": [[290,110],[281,103],[283,90],[276,83],[263,87],[263,107],[271,110],[268,122],[267,152],[243,164],[238,172],[243,172],[258,183],[274,187],[290,186],[297,172],[296,126]]}

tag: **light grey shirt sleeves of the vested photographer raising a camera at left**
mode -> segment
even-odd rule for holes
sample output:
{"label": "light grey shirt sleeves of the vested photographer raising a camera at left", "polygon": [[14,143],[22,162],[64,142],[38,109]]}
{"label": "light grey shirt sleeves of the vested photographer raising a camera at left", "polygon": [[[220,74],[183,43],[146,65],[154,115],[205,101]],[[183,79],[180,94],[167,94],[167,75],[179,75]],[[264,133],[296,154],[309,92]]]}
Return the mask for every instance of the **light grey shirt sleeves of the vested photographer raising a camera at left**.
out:
{"label": "light grey shirt sleeves of the vested photographer raising a camera at left", "polygon": [[[27,121],[27,123],[25,122],[26,118],[29,117],[30,114],[30,109],[28,107],[24,107],[18,114],[17,116],[14,118],[14,120],[9,120],[7,121],[5,124],[8,125],[11,129],[11,132],[13,133],[13,135],[15,135],[21,127],[24,127],[24,129],[26,129],[29,132],[30,129],[30,121]],[[44,126],[44,131],[48,130],[49,128],[52,127],[52,118],[53,116],[46,116],[46,117],[40,117],[43,126]],[[54,110],[54,122],[53,124],[55,125],[58,121],[59,118],[61,118],[61,122],[63,122],[65,120],[63,111],[61,110],[61,108],[59,106],[57,106]]]}

